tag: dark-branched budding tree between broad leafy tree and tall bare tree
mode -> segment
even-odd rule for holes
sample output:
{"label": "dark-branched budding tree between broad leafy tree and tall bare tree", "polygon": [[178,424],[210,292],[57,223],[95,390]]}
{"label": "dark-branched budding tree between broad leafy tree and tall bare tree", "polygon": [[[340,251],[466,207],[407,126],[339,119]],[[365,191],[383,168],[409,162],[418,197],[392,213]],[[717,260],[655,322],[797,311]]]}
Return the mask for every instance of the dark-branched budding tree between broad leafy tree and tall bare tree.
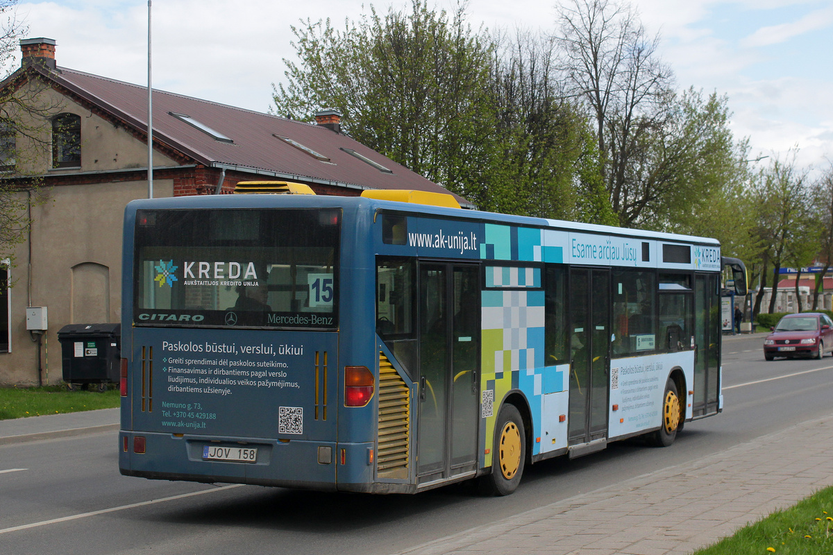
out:
{"label": "dark-branched budding tree between broad leafy tree and tall bare tree", "polygon": [[551,40],[517,32],[499,52],[492,70],[492,140],[503,145],[496,163],[506,178],[492,184],[486,204],[514,214],[616,224],[597,187],[595,139],[561,90]]}

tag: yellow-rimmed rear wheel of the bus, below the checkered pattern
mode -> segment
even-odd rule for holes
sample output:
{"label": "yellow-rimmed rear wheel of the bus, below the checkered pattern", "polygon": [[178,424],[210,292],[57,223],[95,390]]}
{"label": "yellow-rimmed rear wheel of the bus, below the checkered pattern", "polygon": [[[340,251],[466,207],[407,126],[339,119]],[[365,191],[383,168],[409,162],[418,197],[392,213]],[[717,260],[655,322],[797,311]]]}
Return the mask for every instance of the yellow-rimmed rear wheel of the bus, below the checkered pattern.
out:
{"label": "yellow-rimmed rear wheel of the bus, below the checkered pattern", "polygon": [[485,495],[509,495],[521,483],[526,463],[526,432],[521,413],[504,404],[497,413],[495,442],[492,444],[491,474],[479,478]]}

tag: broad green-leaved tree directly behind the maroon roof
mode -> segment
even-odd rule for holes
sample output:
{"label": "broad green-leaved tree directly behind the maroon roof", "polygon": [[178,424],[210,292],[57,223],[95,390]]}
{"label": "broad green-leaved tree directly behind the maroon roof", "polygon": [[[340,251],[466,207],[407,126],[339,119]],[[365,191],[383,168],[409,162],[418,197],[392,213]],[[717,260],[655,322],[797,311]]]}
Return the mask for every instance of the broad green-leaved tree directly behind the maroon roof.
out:
{"label": "broad green-leaved tree directly behind the maroon roof", "polygon": [[367,146],[472,201],[485,198],[500,156],[490,87],[493,45],[426,0],[410,12],[292,27],[300,66],[285,60],[287,87],[275,113],[309,120],[325,106],[345,112],[344,130]]}

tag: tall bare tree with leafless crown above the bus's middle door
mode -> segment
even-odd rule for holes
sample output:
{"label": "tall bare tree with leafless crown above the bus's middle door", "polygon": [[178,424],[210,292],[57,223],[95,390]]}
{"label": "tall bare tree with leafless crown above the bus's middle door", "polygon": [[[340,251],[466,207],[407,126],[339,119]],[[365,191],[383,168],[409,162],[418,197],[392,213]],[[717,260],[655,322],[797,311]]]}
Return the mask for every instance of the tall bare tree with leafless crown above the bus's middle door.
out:
{"label": "tall bare tree with leafless crown above the bus's middle door", "polygon": [[648,176],[656,176],[651,146],[673,115],[673,73],[657,55],[659,36],[647,35],[626,2],[569,0],[559,23],[561,71],[595,120],[613,210],[622,225],[633,225],[669,190]]}

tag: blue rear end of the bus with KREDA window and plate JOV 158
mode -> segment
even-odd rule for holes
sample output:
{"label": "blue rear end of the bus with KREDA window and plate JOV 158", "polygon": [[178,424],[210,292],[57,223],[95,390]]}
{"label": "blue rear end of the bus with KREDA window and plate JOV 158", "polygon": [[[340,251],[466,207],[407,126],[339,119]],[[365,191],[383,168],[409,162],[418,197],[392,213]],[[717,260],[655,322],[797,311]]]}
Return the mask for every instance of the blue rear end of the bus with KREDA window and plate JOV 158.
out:
{"label": "blue rear end of the bus with KREDA window and plate JOV 158", "polygon": [[122,473],[371,483],[370,432],[337,442],[342,210],[127,214]]}

